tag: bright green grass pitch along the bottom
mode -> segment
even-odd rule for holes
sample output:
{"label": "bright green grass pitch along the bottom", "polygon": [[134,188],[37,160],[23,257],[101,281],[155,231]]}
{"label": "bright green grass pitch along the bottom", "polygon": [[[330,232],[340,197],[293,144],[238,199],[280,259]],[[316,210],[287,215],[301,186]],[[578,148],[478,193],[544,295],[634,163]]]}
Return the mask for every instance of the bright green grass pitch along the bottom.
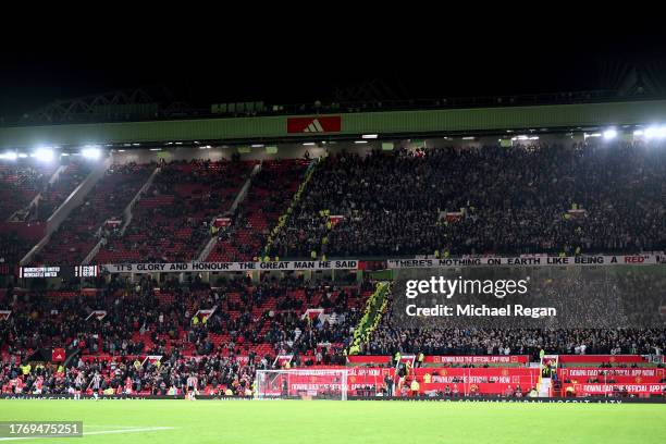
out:
{"label": "bright green grass pitch along the bottom", "polygon": [[64,444],[666,442],[656,404],[0,400],[0,420],[83,420],[83,439],[20,440]]}

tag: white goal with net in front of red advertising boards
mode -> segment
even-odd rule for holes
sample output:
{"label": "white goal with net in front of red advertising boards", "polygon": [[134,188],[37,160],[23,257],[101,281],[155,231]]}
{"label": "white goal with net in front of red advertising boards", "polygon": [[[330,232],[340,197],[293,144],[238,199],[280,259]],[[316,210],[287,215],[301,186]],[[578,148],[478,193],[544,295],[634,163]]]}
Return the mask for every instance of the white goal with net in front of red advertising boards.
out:
{"label": "white goal with net in front of red advertising boards", "polygon": [[258,399],[347,399],[347,369],[257,370]]}

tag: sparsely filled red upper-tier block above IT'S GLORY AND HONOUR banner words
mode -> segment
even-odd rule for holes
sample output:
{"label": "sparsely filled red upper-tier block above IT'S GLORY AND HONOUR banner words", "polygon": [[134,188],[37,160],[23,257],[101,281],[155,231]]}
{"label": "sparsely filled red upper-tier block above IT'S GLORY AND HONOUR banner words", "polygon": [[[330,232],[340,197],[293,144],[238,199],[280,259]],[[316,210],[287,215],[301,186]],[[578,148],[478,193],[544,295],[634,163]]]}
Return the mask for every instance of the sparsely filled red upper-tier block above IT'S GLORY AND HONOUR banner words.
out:
{"label": "sparsely filled red upper-tier block above IT'S GLORY AND HONOUR banner words", "polygon": [[209,223],[226,212],[256,162],[170,162],[133,209],[124,234],[110,233],[98,263],[183,262],[206,245]]}

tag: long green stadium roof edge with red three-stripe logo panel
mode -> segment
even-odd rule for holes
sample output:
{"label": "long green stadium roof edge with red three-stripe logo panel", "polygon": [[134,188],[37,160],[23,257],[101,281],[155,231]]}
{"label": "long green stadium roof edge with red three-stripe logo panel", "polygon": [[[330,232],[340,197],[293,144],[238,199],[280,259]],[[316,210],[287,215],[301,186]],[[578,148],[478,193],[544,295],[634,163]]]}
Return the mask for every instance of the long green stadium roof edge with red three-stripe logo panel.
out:
{"label": "long green stadium roof edge with red three-stripe logo panel", "polygon": [[666,122],[666,100],[384,112],[305,113],[0,128],[0,148],[583,131]]}

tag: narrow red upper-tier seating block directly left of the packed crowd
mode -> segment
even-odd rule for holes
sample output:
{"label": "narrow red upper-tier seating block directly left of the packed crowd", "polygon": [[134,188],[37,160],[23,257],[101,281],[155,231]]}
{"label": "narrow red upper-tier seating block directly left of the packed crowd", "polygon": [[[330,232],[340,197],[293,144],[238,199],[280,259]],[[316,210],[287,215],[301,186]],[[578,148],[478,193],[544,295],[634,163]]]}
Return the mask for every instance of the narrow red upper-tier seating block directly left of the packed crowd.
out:
{"label": "narrow red upper-tier seating block directly left of the packed crowd", "polygon": [[230,226],[215,233],[209,262],[257,259],[280,215],[288,208],[309,162],[300,159],[263,161]]}

